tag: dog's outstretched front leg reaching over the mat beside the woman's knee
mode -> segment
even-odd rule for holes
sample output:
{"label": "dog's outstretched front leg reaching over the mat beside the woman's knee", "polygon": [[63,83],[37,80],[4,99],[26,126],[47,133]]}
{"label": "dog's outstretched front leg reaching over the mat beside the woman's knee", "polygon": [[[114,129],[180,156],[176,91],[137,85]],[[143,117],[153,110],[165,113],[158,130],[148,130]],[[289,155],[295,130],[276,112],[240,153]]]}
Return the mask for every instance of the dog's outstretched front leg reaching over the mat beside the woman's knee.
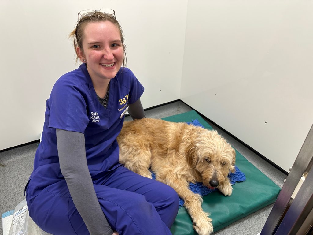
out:
{"label": "dog's outstretched front leg reaching over the mat beside the woman's knee", "polygon": [[[171,177],[167,177],[167,179],[168,178]],[[175,178],[177,178],[177,176]],[[185,200],[184,206],[192,218],[194,230],[196,230],[199,235],[211,234],[213,232],[212,219],[208,217],[209,214],[204,212],[201,207],[203,201],[202,197],[199,194],[193,193],[189,189],[188,182],[185,180],[180,179],[171,182],[167,180],[166,183],[174,188],[178,195]]]}

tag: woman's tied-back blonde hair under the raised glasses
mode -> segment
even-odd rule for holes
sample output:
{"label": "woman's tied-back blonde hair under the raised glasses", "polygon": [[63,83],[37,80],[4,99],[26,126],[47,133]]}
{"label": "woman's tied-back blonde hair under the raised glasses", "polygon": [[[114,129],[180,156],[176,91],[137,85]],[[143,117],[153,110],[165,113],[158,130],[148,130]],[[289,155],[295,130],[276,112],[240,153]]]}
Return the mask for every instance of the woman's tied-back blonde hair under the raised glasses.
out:
{"label": "woman's tied-back blonde hair under the raised glasses", "polygon": [[92,23],[92,22],[101,22],[101,21],[110,21],[113,23],[116,28],[120,31],[121,35],[121,42],[123,45],[123,51],[124,51],[124,58],[123,58],[123,67],[126,65],[126,52],[125,52],[125,44],[124,44],[124,36],[123,36],[123,30],[121,28],[120,23],[114,18],[112,15],[107,15],[101,12],[96,11],[93,15],[91,16],[84,16],[80,18],[80,20],[77,22],[75,29],[69,34],[69,38],[73,39],[73,44],[74,44],[74,50],[76,53],[76,63],[80,61],[80,57],[76,51],[77,47],[80,47],[81,50],[83,50],[83,39],[84,39],[84,29],[87,24]]}

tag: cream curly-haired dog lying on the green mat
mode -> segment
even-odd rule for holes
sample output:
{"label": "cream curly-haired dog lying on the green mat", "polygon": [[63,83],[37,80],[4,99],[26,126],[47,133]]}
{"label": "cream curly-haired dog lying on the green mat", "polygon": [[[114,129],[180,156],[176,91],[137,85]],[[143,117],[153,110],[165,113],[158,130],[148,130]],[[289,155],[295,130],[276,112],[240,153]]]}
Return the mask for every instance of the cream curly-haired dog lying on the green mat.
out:
{"label": "cream curly-haired dog lying on the green mat", "polygon": [[204,212],[202,197],[189,189],[189,182],[203,182],[224,195],[232,194],[227,178],[234,172],[235,150],[217,131],[143,118],[125,122],[117,137],[120,163],[139,175],[170,185],[184,199],[184,206],[199,235],[213,232],[212,219]]}

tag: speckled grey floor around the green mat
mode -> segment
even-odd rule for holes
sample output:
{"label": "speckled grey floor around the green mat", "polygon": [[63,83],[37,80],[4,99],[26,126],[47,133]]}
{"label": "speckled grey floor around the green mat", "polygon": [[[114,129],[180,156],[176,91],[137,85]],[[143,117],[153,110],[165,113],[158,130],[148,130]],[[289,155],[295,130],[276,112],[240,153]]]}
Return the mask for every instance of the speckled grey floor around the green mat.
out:
{"label": "speckled grey floor around the green mat", "polygon": [[[192,110],[183,102],[177,101],[146,111],[149,118],[164,118],[175,114]],[[126,117],[131,120],[131,117]],[[237,149],[254,166],[282,187],[283,180],[287,177],[284,173],[267,163],[264,159],[254,154],[236,139],[223,132],[221,129],[208,122],[213,128],[218,130],[228,142]],[[28,144],[0,153],[0,213],[13,210],[15,206],[25,199],[24,186],[33,170],[33,159],[37,149],[37,144]],[[256,235],[265,224],[265,221],[273,205],[264,207],[253,214],[234,222],[224,229],[215,232],[215,235]],[[2,234],[2,219],[0,220],[0,234]]]}

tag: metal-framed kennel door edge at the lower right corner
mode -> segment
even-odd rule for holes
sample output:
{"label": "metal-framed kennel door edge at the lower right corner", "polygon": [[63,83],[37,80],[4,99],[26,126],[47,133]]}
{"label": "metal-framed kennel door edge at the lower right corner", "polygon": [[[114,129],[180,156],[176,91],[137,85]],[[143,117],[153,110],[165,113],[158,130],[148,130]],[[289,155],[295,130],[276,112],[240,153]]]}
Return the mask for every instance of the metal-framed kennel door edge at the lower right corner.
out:
{"label": "metal-framed kennel door edge at the lower right corner", "polygon": [[[290,173],[278,195],[260,235],[294,234],[307,224],[305,233],[311,234],[313,209],[313,125],[290,168]],[[310,221],[308,221],[310,220]]]}

